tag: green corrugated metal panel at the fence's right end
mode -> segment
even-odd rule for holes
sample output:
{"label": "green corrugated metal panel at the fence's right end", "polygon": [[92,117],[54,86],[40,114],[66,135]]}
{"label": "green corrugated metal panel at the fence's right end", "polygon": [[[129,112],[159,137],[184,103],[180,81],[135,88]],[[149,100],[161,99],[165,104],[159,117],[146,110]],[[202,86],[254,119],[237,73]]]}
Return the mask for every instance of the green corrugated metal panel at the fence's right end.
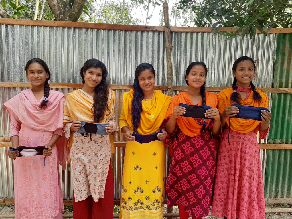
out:
{"label": "green corrugated metal panel at the fence's right end", "polygon": [[[292,88],[292,34],[279,34],[275,88]],[[273,94],[268,143],[292,144],[292,95]],[[265,198],[292,198],[292,150],[267,150]]]}

